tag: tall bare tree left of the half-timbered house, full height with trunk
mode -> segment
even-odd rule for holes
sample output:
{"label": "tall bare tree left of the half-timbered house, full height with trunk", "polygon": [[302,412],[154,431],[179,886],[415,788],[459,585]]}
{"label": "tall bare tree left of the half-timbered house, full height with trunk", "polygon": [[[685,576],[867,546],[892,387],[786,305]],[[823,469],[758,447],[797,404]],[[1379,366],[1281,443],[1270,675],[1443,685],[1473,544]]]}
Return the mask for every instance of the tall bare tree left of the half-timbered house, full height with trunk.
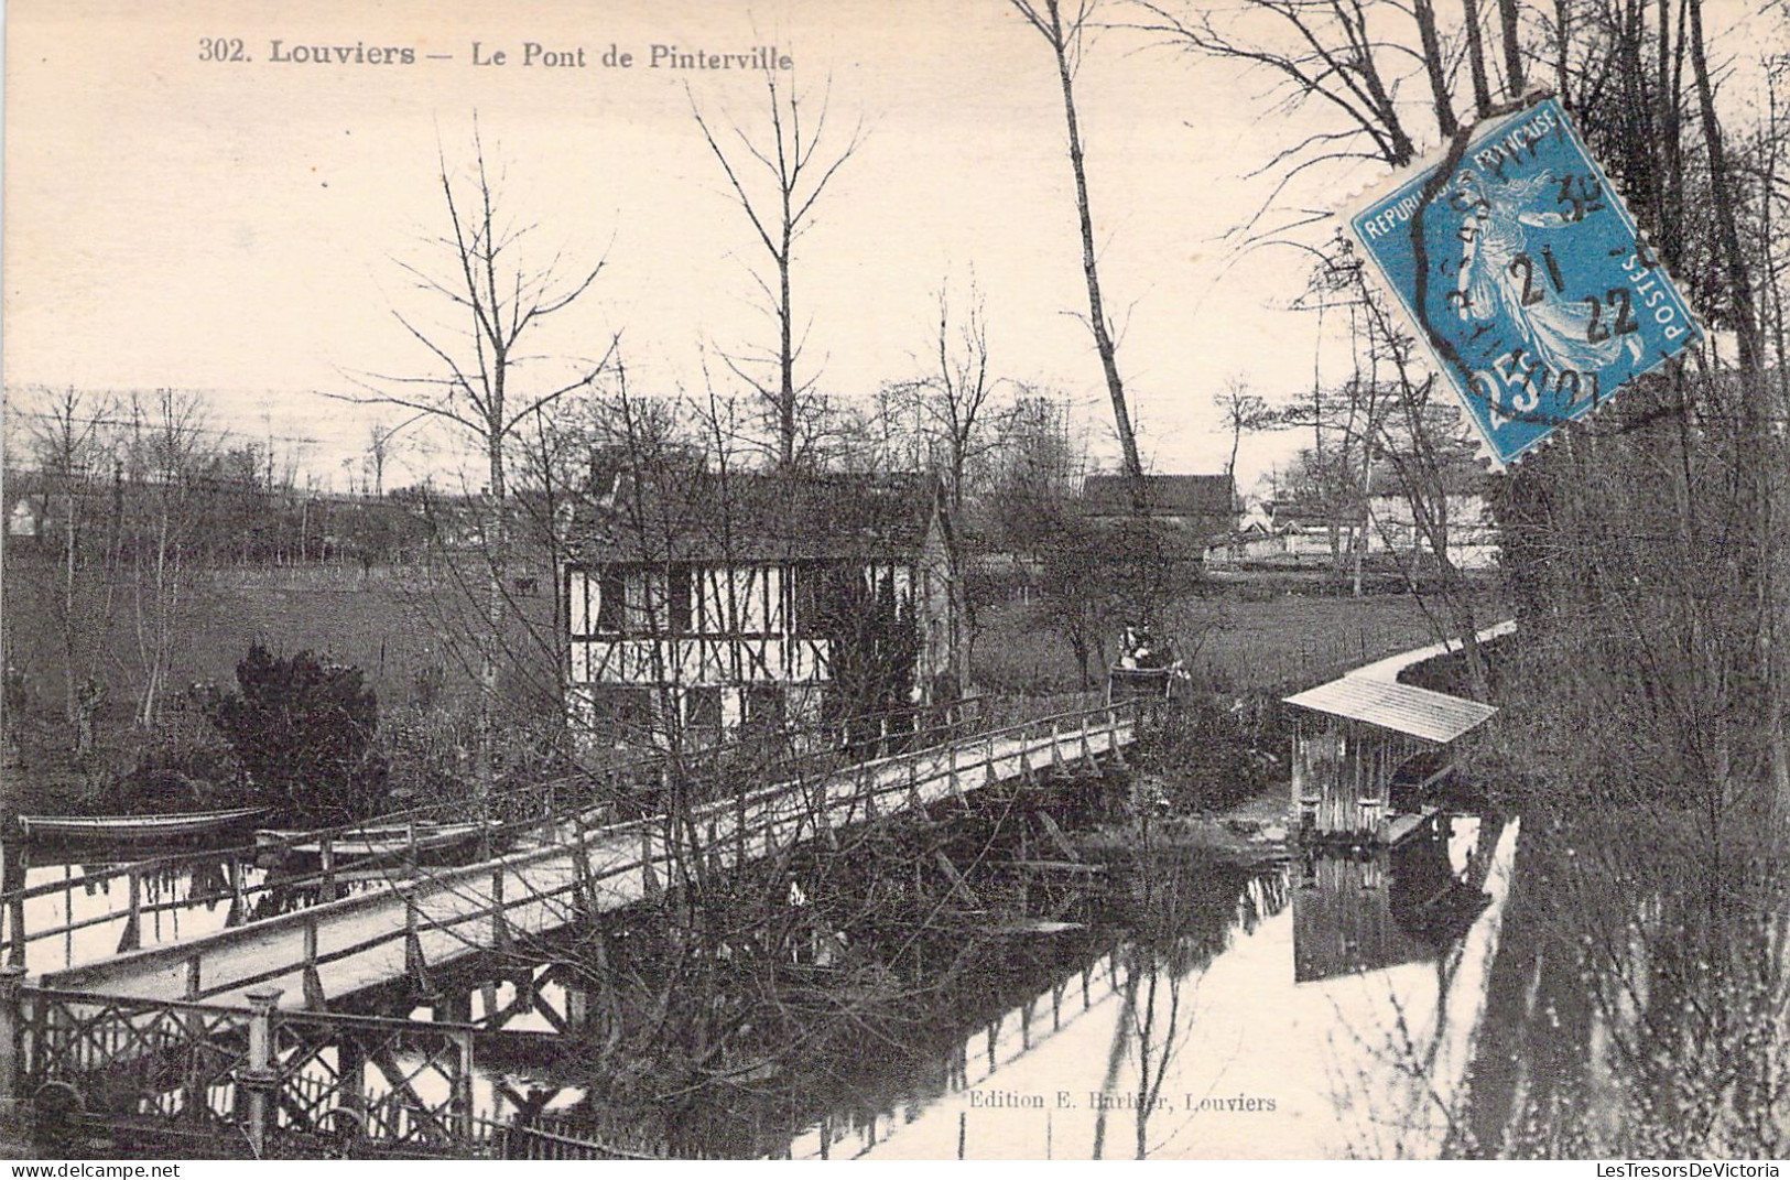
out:
{"label": "tall bare tree left of the half-timbered house, full height with trunk", "polygon": [[[482,790],[492,779],[492,709],[498,698],[499,632],[507,611],[510,494],[507,449],[535,415],[562,398],[591,389],[616,353],[610,338],[596,360],[576,362],[569,380],[517,392],[512,381],[524,365],[544,360],[526,353],[541,326],[573,306],[603,270],[603,260],[566,270],[562,254],[544,263],[528,260],[524,240],[537,229],[505,211],[485,159],[478,124],[473,125],[473,163],[467,174],[439,156],[439,183],[446,206],[446,233],[433,238],[440,261],[399,263],[412,286],[446,306],[448,322],[428,326],[408,312],[392,310],[405,333],[430,356],[422,374],[374,374],[362,380],[356,401],[412,410],[469,435],[487,471],[483,492],[485,618],[480,648],[480,743],[476,775]],[[453,324],[453,326],[449,326]]]}

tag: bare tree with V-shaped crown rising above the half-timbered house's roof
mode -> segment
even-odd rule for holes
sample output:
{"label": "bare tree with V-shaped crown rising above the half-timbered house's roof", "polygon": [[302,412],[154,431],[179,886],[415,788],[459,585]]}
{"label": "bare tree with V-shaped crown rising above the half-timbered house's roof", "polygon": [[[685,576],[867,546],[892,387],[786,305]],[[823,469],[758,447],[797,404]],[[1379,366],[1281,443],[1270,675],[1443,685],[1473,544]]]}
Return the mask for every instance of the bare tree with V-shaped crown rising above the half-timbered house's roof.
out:
{"label": "bare tree with V-shaped crown rising above the half-timbered house's roof", "polygon": [[[822,95],[820,109],[804,127],[807,100],[795,86],[784,95],[779,90],[777,75],[766,72],[764,90],[771,118],[770,136],[764,140],[754,140],[739,124],[729,122],[729,131],[737,145],[723,149],[695,98],[691,98],[691,113],[709,150],[721,165],[739,209],[752,222],[752,231],[775,269],[771,281],[755,270],[752,274],[777,321],[775,351],[759,356],[725,356],[725,360],[741,381],[757,390],[775,426],[777,462],[782,467],[791,467],[800,453],[798,435],[804,419],[800,401],[813,387],[813,381],[797,381],[795,376],[795,365],[802,353],[802,342],[797,340],[795,333],[795,297],[791,294],[795,244],[813,224],[814,202],[827,192],[827,184],[832,183],[840,167],[863,143],[863,124],[841,149],[836,152],[829,149],[822,154],[822,141],[827,136],[827,97]],[[754,179],[759,172],[768,179],[768,190],[763,188],[763,181]],[[754,372],[759,365],[770,365],[771,378]]]}

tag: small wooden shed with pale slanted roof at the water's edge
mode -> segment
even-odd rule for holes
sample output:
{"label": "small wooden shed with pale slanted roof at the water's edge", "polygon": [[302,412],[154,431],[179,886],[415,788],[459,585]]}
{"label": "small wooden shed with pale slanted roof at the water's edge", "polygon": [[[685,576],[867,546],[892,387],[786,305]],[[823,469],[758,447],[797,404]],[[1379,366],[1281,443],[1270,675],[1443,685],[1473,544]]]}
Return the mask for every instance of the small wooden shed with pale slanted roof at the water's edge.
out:
{"label": "small wooden shed with pale slanted roof at the water's edge", "polygon": [[1296,705],[1292,806],[1317,840],[1396,843],[1419,817],[1403,808],[1453,768],[1455,743],[1496,709],[1377,677],[1341,677],[1287,697]]}

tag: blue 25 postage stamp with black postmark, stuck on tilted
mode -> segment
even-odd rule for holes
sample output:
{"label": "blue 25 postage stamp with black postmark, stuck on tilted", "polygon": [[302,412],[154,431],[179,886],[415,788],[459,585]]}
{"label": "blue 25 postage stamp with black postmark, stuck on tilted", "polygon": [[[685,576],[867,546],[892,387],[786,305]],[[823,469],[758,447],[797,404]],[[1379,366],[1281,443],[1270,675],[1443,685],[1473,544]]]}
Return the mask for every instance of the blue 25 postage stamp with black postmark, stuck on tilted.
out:
{"label": "blue 25 postage stamp with black postmark, stuck on tilted", "polygon": [[1554,98],[1348,224],[1500,467],[1702,335]]}

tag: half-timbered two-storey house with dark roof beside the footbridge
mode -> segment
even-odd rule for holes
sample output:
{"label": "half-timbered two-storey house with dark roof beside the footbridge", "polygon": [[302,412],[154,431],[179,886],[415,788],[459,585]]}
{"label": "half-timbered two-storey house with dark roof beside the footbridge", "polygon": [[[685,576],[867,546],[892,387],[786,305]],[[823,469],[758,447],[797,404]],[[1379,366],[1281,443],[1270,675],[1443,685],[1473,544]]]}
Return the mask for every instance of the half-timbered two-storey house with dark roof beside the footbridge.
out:
{"label": "half-timbered two-storey house with dark roof beside the footbridge", "polygon": [[950,695],[952,537],[922,478],[616,476],[560,573],[573,720],[703,741]]}

